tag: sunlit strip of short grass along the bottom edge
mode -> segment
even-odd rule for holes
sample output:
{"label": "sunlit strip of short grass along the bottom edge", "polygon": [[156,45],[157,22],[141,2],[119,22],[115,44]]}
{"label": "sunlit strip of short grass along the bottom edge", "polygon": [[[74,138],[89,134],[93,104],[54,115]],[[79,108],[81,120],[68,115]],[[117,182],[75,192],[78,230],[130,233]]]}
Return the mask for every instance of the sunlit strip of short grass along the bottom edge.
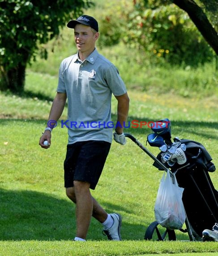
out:
{"label": "sunlit strip of short grass along the bottom edge", "polygon": [[[21,241],[0,243],[2,255],[10,256],[121,256],[121,255],[159,255],[162,256],[215,256],[217,246],[215,243],[190,242],[149,242],[149,241],[123,241],[119,242],[87,242],[73,243],[71,241]],[[13,251],[12,249],[13,247]],[[203,253],[197,253],[203,251]],[[214,253],[211,253],[214,251]]]}

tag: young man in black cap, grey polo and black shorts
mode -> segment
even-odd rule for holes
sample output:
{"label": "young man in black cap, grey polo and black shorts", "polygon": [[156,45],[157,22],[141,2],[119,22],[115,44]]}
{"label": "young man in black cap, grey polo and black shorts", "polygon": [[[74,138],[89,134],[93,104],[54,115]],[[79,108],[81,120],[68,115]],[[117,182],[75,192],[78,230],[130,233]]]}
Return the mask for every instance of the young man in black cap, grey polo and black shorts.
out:
{"label": "young man in black cap, grey polo and black shorts", "polygon": [[[68,145],[64,161],[64,186],[69,199],[76,203],[76,237],[85,241],[91,216],[103,224],[109,240],[121,240],[121,216],[107,214],[92,197],[112,142],[111,95],[117,100],[117,125],[114,140],[125,144],[123,133],[129,98],[116,67],[95,49],[98,22],[88,15],[68,22],[74,29],[77,54],[60,65],[57,94],[48,119],[57,121],[68,99]],[[71,125],[73,124],[73,125]],[[48,141],[48,146],[43,142]],[[39,145],[51,145],[51,127],[47,126]]]}

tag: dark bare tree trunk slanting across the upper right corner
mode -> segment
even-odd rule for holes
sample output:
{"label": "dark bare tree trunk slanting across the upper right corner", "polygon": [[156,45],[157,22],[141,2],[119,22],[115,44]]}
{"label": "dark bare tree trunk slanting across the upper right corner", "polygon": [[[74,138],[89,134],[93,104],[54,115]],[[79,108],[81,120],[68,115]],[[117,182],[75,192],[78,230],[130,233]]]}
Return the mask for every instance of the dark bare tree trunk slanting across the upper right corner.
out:
{"label": "dark bare tree trunk slanting across the upper right corner", "polygon": [[201,32],[201,35],[203,35],[205,40],[218,55],[218,33],[210,24],[201,7],[198,6],[193,0],[172,0],[172,2],[180,7],[180,9],[183,9],[188,13],[192,22],[194,22],[197,29]]}

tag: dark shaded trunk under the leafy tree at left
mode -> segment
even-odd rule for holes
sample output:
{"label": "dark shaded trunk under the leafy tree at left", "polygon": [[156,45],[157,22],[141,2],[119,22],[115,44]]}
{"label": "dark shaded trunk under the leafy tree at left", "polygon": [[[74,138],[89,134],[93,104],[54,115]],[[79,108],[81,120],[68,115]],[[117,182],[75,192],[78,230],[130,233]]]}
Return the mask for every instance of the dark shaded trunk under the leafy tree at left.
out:
{"label": "dark shaded trunk under the leafy tree at left", "polygon": [[0,69],[1,81],[0,90],[10,90],[13,93],[22,93],[25,85],[26,65],[18,63],[16,67],[5,71],[4,67]]}

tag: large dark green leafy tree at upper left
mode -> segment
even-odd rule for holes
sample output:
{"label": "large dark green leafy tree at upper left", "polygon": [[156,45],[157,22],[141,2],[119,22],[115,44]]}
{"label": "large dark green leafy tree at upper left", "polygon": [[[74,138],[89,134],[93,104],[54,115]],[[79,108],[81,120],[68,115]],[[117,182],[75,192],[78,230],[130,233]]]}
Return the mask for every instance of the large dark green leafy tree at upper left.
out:
{"label": "large dark green leafy tree at upper left", "polygon": [[[21,93],[26,66],[40,44],[59,34],[90,0],[0,0],[0,90]],[[47,57],[47,50],[41,51]]]}

